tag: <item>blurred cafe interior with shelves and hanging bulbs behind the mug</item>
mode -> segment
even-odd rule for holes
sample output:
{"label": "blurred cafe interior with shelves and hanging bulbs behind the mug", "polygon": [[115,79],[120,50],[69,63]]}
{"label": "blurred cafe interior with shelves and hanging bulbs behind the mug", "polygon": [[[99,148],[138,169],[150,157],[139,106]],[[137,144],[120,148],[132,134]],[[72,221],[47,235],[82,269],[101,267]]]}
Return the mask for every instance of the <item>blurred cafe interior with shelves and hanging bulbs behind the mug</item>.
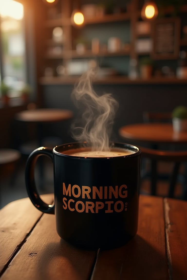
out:
{"label": "blurred cafe interior with shelves and hanging bulbs behind the mug", "polygon": [[[91,67],[96,94],[118,102],[111,141],[180,152],[142,153],[140,193],[187,199],[187,125],[174,127],[187,122],[187,1],[0,0],[0,208],[27,197],[31,151],[75,141],[71,125],[84,112],[72,92]],[[37,178],[53,193],[47,159]]]}

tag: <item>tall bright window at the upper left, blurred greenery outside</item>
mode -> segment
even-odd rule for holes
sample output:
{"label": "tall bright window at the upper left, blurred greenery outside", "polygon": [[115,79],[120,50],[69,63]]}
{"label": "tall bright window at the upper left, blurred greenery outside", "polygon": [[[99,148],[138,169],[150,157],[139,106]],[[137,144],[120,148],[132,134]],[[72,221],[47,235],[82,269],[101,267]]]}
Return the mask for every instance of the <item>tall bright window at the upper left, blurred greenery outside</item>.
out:
{"label": "tall bright window at the upper left, blurred greenery outside", "polygon": [[10,88],[10,96],[19,94],[26,83],[26,50],[24,8],[14,0],[0,0],[0,64],[1,76]]}

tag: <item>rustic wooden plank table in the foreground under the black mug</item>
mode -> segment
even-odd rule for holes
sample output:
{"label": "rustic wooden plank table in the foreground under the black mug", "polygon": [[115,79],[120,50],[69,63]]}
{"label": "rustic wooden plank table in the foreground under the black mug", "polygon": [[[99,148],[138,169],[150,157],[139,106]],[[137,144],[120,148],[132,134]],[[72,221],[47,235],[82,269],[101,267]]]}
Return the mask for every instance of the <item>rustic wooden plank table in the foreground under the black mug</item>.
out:
{"label": "rustic wooden plank table in the foreground under the black mug", "polygon": [[17,200],[0,211],[0,279],[186,280],[186,221],[186,201],[140,195],[138,233],[130,242],[82,251],[60,239],[54,215],[28,198]]}

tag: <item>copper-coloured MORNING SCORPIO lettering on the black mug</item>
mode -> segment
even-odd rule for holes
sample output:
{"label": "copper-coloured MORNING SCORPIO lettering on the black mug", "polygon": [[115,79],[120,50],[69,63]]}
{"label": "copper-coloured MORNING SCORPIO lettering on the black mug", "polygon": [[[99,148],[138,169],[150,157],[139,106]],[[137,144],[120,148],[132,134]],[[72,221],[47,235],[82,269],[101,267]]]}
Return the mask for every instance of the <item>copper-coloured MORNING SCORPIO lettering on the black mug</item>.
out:
{"label": "copper-coloured MORNING SCORPIO lettering on the black mug", "polygon": [[[127,203],[123,203],[122,200],[127,197],[127,186],[116,185],[113,186],[78,186],[63,183],[63,208],[70,211],[77,211],[79,213],[99,213],[104,209],[105,213],[121,212],[123,209],[127,211]],[[75,200],[73,199],[75,198]],[[88,201],[82,201],[79,199],[88,199]],[[98,201],[100,199],[100,201]],[[108,200],[110,199],[110,200]],[[111,200],[113,199],[113,200]],[[90,201],[89,201],[90,200]],[[92,201],[91,201],[92,200]],[[102,201],[101,201],[102,200]],[[115,200],[115,201],[114,201]],[[104,202],[103,202],[104,201]]]}

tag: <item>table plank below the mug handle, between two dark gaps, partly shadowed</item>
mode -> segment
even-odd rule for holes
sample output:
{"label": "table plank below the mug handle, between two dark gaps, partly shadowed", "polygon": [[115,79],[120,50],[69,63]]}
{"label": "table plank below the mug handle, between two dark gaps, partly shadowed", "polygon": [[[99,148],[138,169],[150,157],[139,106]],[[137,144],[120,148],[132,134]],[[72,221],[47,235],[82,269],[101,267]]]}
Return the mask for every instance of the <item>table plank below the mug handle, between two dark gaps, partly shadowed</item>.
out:
{"label": "table plank below the mug handle, between two dark gaps, partly shadowed", "polygon": [[94,251],[82,251],[56,232],[55,216],[44,214],[1,280],[87,280]]}

